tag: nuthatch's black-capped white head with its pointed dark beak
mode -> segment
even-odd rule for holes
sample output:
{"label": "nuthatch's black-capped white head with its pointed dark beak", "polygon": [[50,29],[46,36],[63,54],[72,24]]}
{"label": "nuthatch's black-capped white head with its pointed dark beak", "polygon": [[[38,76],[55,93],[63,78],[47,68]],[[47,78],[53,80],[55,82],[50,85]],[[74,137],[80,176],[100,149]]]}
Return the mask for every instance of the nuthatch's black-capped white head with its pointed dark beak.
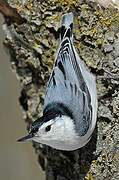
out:
{"label": "nuthatch's black-capped white head with its pointed dark beak", "polygon": [[56,149],[76,139],[74,122],[71,117],[61,112],[49,111],[32,123],[29,134],[18,139],[19,142],[33,140]]}

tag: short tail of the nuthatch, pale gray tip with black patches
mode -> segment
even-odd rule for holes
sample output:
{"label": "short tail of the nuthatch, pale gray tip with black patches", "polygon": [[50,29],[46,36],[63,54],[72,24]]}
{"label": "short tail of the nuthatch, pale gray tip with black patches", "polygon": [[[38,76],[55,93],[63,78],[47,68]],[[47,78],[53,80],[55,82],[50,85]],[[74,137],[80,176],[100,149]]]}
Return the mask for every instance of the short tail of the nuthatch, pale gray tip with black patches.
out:
{"label": "short tail of the nuthatch, pale gray tip with black patches", "polygon": [[66,13],[62,16],[60,28],[60,40],[64,38],[73,39],[73,13]]}

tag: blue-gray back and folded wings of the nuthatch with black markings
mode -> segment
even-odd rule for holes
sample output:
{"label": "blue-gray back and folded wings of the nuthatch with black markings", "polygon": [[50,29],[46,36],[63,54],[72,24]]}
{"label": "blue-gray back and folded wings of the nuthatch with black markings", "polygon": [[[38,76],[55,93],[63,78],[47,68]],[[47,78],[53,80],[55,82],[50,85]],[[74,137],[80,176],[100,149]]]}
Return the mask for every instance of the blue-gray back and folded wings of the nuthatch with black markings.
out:
{"label": "blue-gray back and folded wings of the nuthatch with black markings", "polygon": [[73,114],[76,131],[83,136],[91,123],[91,98],[75,55],[72,29],[66,30],[47,84],[44,109],[50,103],[64,104]]}

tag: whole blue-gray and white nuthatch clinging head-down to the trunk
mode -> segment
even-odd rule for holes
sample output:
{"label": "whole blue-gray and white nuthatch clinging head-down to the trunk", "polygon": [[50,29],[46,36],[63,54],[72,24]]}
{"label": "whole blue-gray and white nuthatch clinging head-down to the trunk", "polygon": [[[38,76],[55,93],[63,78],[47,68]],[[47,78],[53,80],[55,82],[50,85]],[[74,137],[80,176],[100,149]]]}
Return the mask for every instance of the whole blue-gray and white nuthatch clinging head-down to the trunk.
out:
{"label": "whole blue-gray and white nuthatch clinging head-down to the trunk", "polygon": [[33,140],[73,151],[92,137],[97,121],[96,80],[74,47],[73,17],[69,12],[61,18],[59,47],[46,85],[43,115],[19,142]]}

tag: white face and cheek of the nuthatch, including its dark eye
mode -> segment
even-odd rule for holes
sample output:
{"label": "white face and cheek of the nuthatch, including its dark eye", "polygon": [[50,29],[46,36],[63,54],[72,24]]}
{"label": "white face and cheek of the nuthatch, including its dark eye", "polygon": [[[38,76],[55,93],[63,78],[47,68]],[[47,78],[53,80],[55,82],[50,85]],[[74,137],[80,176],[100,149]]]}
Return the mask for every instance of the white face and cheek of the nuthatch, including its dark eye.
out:
{"label": "white face and cheek of the nuthatch, including its dark eye", "polygon": [[67,144],[70,145],[70,143],[76,140],[72,119],[67,116],[59,116],[43,123],[33,140],[56,149],[61,149],[61,146]]}

